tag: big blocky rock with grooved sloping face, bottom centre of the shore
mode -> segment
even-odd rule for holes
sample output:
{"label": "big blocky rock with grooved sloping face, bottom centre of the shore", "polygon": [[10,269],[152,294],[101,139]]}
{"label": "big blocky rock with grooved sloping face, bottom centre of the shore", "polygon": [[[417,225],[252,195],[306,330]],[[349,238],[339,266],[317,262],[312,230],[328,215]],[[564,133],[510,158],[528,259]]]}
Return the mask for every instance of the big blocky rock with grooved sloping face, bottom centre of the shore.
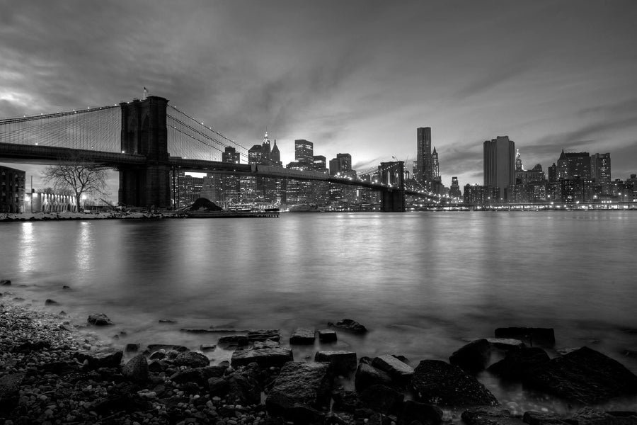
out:
{"label": "big blocky rock with grooved sloping face, bottom centre of the shore", "polygon": [[[274,416],[290,418],[299,409],[323,409],[330,402],[331,375],[326,363],[288,362],[281,368],[265,406]],[[310,411],[311,412],[311,411]]]}

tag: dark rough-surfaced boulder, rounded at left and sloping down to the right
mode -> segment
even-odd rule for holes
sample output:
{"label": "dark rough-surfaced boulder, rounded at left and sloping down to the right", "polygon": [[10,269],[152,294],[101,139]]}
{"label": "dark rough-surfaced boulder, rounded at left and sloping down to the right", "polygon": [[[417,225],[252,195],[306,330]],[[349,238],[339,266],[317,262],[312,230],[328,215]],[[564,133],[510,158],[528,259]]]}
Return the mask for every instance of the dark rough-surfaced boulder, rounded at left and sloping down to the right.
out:
{"label": "dark rough-surfaced boulder, rounded at left and sloping down to the right", "polygon": [[498,400],[476,378],[458,366],[440,360],[423,360],[412,378],[424,402],[443,406],[497,406]]}

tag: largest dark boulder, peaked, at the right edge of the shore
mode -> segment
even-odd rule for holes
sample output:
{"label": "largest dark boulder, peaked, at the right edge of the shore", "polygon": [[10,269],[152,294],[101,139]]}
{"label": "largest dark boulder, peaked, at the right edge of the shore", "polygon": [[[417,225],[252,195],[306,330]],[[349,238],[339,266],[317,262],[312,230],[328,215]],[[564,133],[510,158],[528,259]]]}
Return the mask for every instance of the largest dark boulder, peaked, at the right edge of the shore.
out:
{"label": "largest dark boulder, peaked, at the right edge of the shore", "polygon": [[637,376],[618,361],[583,347],[524,374],[524,385],[590,405],[637,394]]}

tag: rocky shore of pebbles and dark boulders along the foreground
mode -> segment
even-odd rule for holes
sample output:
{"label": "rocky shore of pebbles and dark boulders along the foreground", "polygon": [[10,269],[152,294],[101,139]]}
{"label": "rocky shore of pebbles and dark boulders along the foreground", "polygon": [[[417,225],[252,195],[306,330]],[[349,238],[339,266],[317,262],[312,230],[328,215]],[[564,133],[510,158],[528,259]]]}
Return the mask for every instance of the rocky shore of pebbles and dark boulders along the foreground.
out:
{"label": "rocky shore of pebbles and dark boulders along the foreground", "polygon": [[[16,424],[637,424],[637,413],[604,403],[637,404],[637,376],[582,347],[549,358],[553,329],[496,329],[450,353],[449,361],[412,363],[400,353],[375,358],[316,351],[295,359],[292,346],[365,334],[351,319],[325,329],[183,329],[219,334],[234,350],[211,365],[212,346],[105,344],[65,313],[25,305],[0,280],[0,425]],[[108,327],[102,314],[88,328]],[[285,341],[286,342],[284,344]],[[542,348],[544,347],[544,348]],[[493,363],[491,354],[501,354]],[[412,359],[413,360],[413,359]],[[521,412],[478,379],[487,370],[568,402],[569,412]]]}

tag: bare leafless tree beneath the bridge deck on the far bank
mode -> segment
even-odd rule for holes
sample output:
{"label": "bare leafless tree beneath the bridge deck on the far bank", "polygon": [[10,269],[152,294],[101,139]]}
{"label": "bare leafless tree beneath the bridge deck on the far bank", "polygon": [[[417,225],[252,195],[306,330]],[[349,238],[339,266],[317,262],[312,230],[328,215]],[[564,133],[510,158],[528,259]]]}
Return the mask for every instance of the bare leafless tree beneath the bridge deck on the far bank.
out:
{"label": "bare leafless tree beneath the bridge deck on the far bank", "polygon": [[58,164],[47,166],[42,171],[42,178],[52,183],[57,193],[70,191],[75,196],[77,211],[80,210],[82,195],[108,195],[105,167],[82,157],[68,157]]}

